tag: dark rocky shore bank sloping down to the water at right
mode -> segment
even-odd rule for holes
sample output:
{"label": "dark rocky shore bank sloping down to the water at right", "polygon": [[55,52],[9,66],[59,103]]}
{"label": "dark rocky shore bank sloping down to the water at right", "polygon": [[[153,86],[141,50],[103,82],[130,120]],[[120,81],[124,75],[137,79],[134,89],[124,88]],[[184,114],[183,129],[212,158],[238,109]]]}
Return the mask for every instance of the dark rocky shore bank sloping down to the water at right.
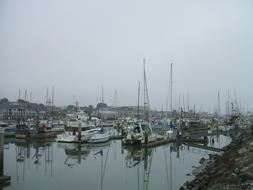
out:
{"label": "dark rocky shore bank sloping down to the water at right", "polygon": [[231,132],[232,142],[221,155],[202,158],[204,169],[180,190],[239,190],[253,189],[253,135],[251,129]]}

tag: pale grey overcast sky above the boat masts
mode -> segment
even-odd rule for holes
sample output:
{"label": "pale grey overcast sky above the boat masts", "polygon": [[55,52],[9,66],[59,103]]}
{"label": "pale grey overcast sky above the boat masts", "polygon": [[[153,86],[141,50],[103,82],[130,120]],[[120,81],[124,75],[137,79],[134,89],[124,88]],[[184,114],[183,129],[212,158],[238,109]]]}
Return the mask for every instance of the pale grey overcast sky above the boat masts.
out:
{"label": "pale grey overcast sky above the boat masts", "polygon": [[[253,108],[252,0],[1,0],[0,97],[32,91],[57,105],[137,104],[146,58],[152,108],[166,107],[170,63],[173,102],[213,111],[220,91]],[[22,95],[24,97],[24,95]],[[222,108],[224,110],[224,108]]]}

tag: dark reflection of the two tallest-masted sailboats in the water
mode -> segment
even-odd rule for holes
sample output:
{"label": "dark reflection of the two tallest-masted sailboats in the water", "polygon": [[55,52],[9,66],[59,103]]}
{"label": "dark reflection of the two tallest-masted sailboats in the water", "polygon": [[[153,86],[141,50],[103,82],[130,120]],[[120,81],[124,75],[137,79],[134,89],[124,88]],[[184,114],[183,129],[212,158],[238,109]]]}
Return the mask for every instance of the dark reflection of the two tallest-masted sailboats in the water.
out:
{"label": "dark reflection of the two tallest-masted sailboats in the water", "polygon": [[[165,172],[165,176],[161,176],[161,180],[167,185],[167,189],[175,189],[175,182],[173,175],[175,172],[175,164],[173,166],[173,159],[180,160],[180,152],[183,151],[183,146],[177,143],[164,145],[159,149],[159,153],[156,148],[141,148],[136,146],[122,146],[122,154],[126,155],[126,167],[136,169],[137,174],[137,189],[152,189],[150,184],[153,184],[151,173],[155,172],[156,168],[162,164],[162,168]],[[159,163],[154,160],[155,166],[152,166],[153,156],[160,154]],[[155,156],[156,157],[156,156]],[[156,158],[157,159],[157,158]],[[181,158],[182,159],[182,158]],[[163,181],[161,181],[163,183]]]}

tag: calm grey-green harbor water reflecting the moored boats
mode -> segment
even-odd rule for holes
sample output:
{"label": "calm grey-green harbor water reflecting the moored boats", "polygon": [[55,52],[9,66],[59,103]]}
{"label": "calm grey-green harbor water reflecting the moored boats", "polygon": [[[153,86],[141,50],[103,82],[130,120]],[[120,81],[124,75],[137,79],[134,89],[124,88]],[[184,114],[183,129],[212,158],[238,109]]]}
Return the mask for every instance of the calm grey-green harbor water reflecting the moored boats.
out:
{"label": "calm grey-green harbor water reflecting the moored boats", "polygon": [[[213,141],[212,141],[213,138]],[[209,137],[210,146],[230,143],[226,136]],[[124,147],[120,140],[100,145],[15,141],[4,145],[4,189],[178,189],[191,180],[194,166],[213,153],[187,145],[153,149]]]}

